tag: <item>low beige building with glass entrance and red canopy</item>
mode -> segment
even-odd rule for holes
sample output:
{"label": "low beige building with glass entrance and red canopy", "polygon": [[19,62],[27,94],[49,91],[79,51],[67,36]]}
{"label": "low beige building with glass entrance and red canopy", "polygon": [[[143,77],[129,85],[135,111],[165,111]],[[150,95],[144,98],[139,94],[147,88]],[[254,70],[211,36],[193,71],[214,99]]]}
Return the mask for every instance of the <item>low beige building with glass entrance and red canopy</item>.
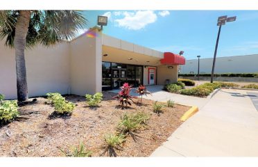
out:
{"label": "low beige building with glass entrance and red canopy", "polygon": [[[38,45],[26,50],[28,95],[49,92],[85,95],[119,88],[166,84],[178,79],[178,65],[184,57],[141,47],[109,35],[98,28],[53,47]],[[0,93],[16,99],[15,50],[0,41]]]}

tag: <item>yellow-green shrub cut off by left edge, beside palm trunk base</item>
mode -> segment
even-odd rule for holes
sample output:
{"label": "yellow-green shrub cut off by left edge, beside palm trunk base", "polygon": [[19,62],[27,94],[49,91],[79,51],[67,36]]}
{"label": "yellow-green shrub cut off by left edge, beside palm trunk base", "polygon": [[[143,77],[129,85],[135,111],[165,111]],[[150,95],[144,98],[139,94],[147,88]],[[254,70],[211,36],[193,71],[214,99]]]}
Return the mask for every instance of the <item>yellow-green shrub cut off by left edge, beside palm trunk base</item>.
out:
{"label": "yellow-green shrub cut off by left edge, beside palm trunk base", "polygon": [[0,103],[0,122],[10,122],[19,116],[16,100],[6,100]]}

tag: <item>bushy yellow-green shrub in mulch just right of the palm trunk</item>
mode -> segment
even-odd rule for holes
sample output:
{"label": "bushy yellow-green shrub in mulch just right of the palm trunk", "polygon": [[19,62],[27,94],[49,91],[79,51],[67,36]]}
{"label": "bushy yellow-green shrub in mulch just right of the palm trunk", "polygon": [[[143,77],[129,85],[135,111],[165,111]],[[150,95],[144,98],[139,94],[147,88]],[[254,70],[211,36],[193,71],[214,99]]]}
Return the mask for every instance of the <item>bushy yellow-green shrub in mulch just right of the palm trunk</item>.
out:
{"label": "bushy yellow-green shrub in mulch just right of the palm trunk", "polygon": [[59,114],[71,114],[74,111],[75,104],[65,100],[60,93],[47,93],[48,99],[51,100],[55,111]]}

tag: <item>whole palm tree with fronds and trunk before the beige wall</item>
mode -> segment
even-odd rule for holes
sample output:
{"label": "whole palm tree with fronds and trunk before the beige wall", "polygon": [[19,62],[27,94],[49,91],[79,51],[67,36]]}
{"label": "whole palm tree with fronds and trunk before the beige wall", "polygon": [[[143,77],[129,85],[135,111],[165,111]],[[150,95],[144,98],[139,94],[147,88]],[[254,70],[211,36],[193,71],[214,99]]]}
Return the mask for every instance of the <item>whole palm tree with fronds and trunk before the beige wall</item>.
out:
{"label": "whole palm tree with fronds and trunk before the beige wall", "polygon": [[28,100],[24,50],[70,40],[86,21],[74,10],[0,10],[0,39],[15,49],[18,101]]}

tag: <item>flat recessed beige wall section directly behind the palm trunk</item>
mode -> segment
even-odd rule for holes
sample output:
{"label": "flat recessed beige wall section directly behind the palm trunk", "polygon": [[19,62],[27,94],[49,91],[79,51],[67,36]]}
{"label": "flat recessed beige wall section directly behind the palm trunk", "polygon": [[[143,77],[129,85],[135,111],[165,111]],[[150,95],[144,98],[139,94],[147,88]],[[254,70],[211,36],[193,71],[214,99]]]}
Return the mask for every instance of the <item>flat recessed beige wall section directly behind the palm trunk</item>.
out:
{"label": "flat recessed beige wall section directly behind the palm trunk", "polygon": [[[0,41],[0,93],[6,99],[16,99],[15,50]],[[25,51],[28,95],[45,95],[49,92],[68,93],[69,44],[54,47],[37,46]]]}

